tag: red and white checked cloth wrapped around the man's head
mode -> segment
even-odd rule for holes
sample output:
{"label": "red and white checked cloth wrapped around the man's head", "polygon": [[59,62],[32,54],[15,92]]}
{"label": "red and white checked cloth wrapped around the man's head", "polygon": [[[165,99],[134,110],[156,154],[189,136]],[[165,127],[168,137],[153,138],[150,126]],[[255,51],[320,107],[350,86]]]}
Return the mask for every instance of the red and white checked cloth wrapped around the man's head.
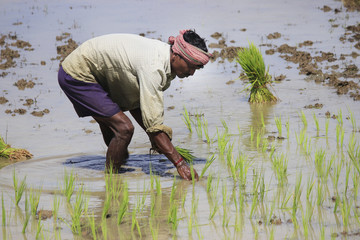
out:
{"label": "red and white checked cloth wrapped around the man's head", "polygon": [[209,62],[211,54],[186,42],[183,35],[188,30],[181,30],[177,37],[170,36],[169,43],[174,53],[179,54],[194,65],[205,65]]}

